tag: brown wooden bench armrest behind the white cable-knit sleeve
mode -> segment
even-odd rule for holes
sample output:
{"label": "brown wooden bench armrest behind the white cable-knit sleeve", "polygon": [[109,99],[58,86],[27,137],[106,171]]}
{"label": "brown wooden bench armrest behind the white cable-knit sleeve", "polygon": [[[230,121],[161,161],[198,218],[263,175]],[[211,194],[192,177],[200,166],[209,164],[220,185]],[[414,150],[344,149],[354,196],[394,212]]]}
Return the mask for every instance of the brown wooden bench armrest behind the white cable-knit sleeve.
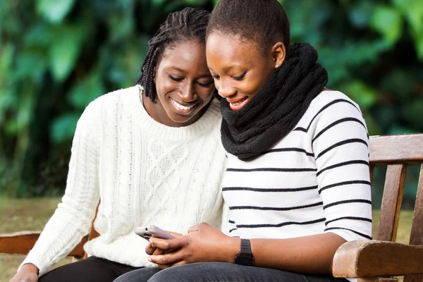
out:
{"label": "brown wooden bench armrest behind the white cable-knit sleeve", "polygon": [[[22,231],[16,233],[0,234],[0,253],[27,255],[34,247],[41,232]],[[69,253],[68,256],[83,257],[84,244],[87,243],[87,236],[82,238],[80,243]]]}

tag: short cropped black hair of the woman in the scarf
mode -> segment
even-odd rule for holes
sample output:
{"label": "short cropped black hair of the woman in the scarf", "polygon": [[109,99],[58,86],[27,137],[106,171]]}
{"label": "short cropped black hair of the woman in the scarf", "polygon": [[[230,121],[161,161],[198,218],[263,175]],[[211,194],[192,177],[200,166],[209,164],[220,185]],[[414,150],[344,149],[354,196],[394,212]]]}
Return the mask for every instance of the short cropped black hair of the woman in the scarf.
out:
{"label": "short cropped black hair of the woman in the scarf", "polygon": [[263,51],[280,40],[287,51],[290,45],[288,16],[277,0],[220,0],[212,11],[207,37],[215,32],[250,39]]}

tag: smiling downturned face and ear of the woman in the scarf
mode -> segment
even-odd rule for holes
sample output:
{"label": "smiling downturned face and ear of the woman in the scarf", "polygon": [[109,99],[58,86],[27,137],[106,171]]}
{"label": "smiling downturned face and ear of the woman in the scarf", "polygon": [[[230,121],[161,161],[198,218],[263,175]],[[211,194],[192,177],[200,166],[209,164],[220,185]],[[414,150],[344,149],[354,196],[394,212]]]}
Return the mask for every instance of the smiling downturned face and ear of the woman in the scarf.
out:
{"label": "smiling downturned face and ear of the woman in the scarf", "polygon": [[242,109],[282,65],[285,47],[278,42],[263,51],[249,39],[213,33],[207,37],[206,54],[219,95],[236,111]]}

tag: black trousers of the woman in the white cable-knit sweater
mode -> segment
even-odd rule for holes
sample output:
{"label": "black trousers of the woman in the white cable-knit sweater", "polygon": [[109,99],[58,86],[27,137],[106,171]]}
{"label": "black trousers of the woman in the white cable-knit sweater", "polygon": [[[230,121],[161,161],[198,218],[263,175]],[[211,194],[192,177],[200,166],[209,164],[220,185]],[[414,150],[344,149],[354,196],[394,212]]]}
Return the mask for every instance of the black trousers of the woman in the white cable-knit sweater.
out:
{"label": "black trousers of the woman in the white cable-knit sweater", "polygon": [[112,282],[122,274],[138,269],[137,267],[128,266],[111,262],[107,259],[99,257],[88,257],[79,262],[73,262],[60,266],[52,271],[44,274],[39,278],[39,282]]}

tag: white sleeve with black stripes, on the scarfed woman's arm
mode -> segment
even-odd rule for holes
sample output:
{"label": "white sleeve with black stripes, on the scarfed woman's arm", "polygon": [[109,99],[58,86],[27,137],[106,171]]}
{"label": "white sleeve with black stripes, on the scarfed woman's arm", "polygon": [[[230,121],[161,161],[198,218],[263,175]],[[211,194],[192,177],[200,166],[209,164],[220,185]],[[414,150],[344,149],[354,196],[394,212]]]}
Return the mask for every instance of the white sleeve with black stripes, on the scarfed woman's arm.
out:
{"label": "white sleeve with black stripes, on the scarfed woman's arm", "polygon": [[322,105],[312,123],[325,232],[348,241],[371,239],[369,136],[360,109],[336,99]]}

